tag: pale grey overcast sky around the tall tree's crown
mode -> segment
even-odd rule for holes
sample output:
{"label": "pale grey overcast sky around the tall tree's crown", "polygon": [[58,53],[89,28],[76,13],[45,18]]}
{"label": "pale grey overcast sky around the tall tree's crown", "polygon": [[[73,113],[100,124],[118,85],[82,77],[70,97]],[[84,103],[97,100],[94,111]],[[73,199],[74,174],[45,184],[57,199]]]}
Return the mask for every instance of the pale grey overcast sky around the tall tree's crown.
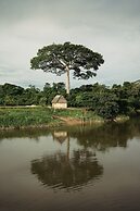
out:
{"label": "pale grey overcast sky around the tall tree's crown", "polygon": [[0,0],[0,84],[65,82],[65,75],[30,70],[39,48],[65,41],[105,61],[97,77],[72,78],[72,87],[140,79],[140,0]]}

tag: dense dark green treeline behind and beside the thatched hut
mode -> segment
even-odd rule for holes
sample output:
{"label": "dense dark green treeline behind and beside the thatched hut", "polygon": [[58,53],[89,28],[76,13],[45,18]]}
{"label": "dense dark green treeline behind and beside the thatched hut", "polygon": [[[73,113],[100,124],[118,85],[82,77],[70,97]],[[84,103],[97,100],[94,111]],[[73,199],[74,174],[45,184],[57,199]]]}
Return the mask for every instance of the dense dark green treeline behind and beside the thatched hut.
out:
{"label": "dense dark green treeline behind and beside the thatched hut", "polygon": [[140,84],[125,82],[112,87],[82,85],[66,95],[64,83],[47,83],[42,90],[35,86],[23,88],[12,84],[0,85],[0,105],[50,105],[55,95],[63,95],[69,107],[88,108],[104,119],[137,114],[140,110]]}

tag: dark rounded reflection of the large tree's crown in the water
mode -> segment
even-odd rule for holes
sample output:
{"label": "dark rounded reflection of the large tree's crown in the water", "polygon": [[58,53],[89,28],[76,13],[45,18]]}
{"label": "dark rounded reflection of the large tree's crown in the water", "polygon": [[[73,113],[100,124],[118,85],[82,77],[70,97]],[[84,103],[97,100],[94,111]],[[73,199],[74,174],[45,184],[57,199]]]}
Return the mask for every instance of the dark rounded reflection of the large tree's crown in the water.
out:
{"label": "dark rounded reflection of the large tree's crown in the water", "polygon": [[73,158],[67,159],[64,153],[58,152],[46,156],[31,162],[31,172],[44,185],[52,188],[77,189],[103,174],[92,152],[87,150],[74,151]]}

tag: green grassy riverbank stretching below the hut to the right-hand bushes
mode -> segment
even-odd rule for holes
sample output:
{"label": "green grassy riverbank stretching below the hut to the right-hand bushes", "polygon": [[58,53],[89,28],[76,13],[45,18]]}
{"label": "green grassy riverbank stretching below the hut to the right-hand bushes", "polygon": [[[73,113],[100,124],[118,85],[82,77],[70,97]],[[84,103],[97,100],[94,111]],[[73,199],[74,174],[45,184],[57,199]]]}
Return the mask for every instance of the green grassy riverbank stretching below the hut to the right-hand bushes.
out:
{"label": "green grassy riverbank stretching below the hut to the right-hand bushes", "polygon": [[0,108],[0,128],[22,128],[29,126],[55,126],[62,122],[54,116],[64,116],[79,121],[101,121],[93,112],[82,109],[54,110],[51,108]]}

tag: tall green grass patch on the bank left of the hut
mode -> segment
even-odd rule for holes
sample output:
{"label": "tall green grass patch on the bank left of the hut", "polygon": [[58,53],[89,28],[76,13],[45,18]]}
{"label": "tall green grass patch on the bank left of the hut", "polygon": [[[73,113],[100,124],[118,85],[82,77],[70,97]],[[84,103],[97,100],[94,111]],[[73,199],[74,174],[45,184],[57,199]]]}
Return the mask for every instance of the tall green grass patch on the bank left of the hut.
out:
{"label": "tall green grass patch on the bank left of the hut", "polygon": [[52,113],[48,108],[0,109],[0,127],[51,124],[55,121]]}

